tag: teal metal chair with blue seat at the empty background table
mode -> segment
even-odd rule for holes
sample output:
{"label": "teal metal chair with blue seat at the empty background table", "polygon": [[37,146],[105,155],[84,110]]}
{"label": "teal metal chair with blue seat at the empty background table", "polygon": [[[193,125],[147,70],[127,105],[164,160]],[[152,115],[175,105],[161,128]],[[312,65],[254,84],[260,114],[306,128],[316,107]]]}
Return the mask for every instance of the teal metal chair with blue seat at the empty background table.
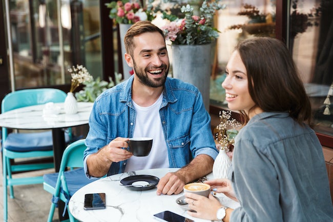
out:
{"label": "teal metal chair with blue seat at the empty background table", "polygon": [[[1,111],[7,111],[32,105],[46,104],[48,102],[64,102],[66,93],[58,89],[26,89],[7,94],[2,100]],[[66,141],[70,143],[71,130],[65,134]],[[9,133],[2,128],[2,155],[3,155],[3,186],[4,186],[4,220],[8,218],[7,187],[10,188],[10,197],[14,198],[13,185],[29,185],[43,183],[43,176],[12,178],[13,172],[24,172],[53,168],[53,163],[19,164],[16,158],[44,158],[53,157],[52,132]],[[12,164],[15,162],[15,164]]]}

